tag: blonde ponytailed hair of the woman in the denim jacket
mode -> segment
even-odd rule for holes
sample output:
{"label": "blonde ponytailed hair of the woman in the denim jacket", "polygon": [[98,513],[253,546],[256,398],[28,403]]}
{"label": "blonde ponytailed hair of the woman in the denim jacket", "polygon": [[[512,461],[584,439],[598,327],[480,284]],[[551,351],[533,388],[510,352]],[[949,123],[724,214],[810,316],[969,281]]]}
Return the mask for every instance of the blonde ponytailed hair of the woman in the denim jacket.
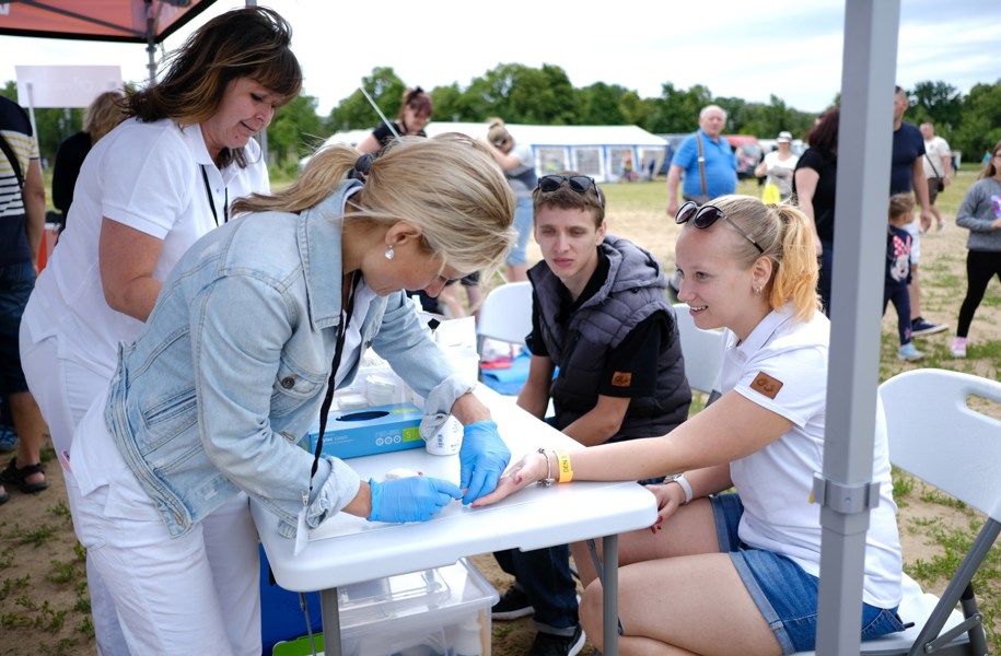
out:
{"label": "blonde ponytailed hair of the woman in the denim jacket", "polygon": [[[271,196],[253,195],[234,212],[301,212],[319,204],[369,155],[346,144],[319,150],[299,179]],[[514,196],[487,150],[465,134],[401,137],[371,160],[350,220],[386,229],[407,221],[428,253],[463,273],[490,277],[514,244]]]}

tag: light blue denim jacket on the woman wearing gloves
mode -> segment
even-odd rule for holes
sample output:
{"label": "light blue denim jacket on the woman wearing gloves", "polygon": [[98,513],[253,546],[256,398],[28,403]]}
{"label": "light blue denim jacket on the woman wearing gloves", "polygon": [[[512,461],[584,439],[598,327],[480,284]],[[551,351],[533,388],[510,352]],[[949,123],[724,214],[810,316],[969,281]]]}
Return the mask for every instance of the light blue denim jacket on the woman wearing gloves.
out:
{"label": "light blue denim jacket on the woman wearing gloves", "polygon": [[[342,183],[302,214],[264,212],[200,238],[164,282],[146,331],[120,348],[105,420],[171,535],[237,492],[295,534],[358,493],[359,477],[298,446],[319,413],[341,317]],[[422,329],[403,291],[376,296],[361,336],[427,399],[424,437],[473,389]],[[358,353],[345,353],[358,370]]]}

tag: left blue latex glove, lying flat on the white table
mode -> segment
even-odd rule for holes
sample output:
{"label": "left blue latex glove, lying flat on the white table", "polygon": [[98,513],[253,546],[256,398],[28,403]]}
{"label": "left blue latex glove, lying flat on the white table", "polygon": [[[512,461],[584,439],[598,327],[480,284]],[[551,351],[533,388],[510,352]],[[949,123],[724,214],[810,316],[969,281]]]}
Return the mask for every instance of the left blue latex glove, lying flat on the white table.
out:
{"label": "left blue latex glove, lying flat on the white table", "polygon": [[455,483],[428,476],[382,483],[369,479],[369,487],[372,489],[369,522],[427,522],[463,495]]}

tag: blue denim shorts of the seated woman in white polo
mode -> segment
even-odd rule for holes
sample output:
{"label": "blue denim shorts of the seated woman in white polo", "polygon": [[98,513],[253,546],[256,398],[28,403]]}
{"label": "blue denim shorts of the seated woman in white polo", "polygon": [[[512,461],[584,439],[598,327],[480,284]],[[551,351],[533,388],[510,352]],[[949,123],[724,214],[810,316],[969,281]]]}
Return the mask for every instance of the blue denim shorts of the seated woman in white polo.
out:
{"label": "blue denim shorts of the seated woman in white polo", "polygon": [[[737,526],[744,513],[740,494],[711,499],[720,551],[730,553],[741,581],[771,626],[783,654],[813,652],[817,644],[817,589],[820,579],[792,559],[741,542]],[[862,604],[862,640],[904,631],[896,608]]]}

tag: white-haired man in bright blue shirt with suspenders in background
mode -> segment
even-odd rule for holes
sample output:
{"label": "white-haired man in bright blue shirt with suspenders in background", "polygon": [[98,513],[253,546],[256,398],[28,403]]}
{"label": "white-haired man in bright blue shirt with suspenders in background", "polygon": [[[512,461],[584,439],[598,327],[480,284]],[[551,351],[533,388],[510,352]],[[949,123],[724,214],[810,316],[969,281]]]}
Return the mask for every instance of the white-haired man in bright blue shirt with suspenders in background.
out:
{"label": "white-haired man in bright blue shirt with suspenders in background", "polygon": [[[737,159],[721,136],[726,113],[718,105],[707,105],[699,113],[699,129],[682,142],[667,169],[667,215],[678,211],[678,180],[684,174],[682,195],[699,204],[737,190]],[[699,142],[705,173],[699,166]],[[922,141],[923,144],[923,141]],[[703,184],[705,178],[705,184]]]}

